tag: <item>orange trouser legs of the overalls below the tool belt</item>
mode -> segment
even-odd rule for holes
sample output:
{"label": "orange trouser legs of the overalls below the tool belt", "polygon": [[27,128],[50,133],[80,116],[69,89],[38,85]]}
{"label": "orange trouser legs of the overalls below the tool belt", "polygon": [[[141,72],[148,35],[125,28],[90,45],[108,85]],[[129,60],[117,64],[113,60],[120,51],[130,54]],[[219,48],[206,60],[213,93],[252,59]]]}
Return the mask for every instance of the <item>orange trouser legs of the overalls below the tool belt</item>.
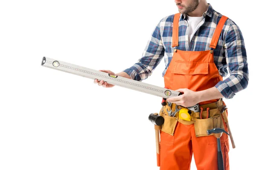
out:
{"label": "orange trouser legs of the overalls below the tool belt", "polygon": [[[227,125],[224,124],[227,131]],[[218,170],[217,138],[214,136],[195,137],[194,124],[178,122],[174,136],[160,131],[160,170],[190,170],[194,153],[197,170]],[[229,170],[229,140],[221,136],[221,150],[225,170]]]}

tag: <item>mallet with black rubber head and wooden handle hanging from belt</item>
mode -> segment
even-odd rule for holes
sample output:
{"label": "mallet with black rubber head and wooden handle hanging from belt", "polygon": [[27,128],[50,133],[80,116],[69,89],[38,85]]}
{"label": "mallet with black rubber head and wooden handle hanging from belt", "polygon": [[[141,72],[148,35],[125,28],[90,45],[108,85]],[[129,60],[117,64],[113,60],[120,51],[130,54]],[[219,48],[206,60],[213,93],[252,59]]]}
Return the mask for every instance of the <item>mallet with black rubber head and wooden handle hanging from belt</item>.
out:
{"label": "mallet with black rubber head and wooden handle hanging from belt", "polygon": [[157,166],[160,167],[160,140],[159,140],[159,130],[161,129],[161,126],[163,125],[164,118],[158,113],[151,113],[148,116],[148,120],[154,124],[155,129],[155,136],[156,136],[156,147],[157,147]]}

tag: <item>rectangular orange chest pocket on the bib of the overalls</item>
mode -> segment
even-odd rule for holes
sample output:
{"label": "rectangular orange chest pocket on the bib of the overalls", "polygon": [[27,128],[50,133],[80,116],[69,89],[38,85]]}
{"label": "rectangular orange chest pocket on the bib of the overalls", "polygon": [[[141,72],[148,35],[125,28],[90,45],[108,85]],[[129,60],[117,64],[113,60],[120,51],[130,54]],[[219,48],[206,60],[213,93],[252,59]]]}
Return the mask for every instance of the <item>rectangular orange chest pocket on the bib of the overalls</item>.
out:
{"label": "rectangular orange chest pocket on the bib of the overalls", "polygon": [[194,75],[194,74],[208,74],[209,62],[185,62],[174,61],[172,73]]}

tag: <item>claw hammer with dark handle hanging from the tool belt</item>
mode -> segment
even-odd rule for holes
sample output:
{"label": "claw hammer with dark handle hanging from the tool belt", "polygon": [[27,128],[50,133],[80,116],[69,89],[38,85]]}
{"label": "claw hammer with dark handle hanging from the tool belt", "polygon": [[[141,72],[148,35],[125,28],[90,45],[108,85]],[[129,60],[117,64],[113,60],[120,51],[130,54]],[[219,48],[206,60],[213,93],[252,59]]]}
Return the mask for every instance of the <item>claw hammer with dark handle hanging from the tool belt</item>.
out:
{"label": "claw hammer with dark handle hanging from the tool belt", "polygon": [[211,130],[207,130],[207,134],[210,135],[214,133],[213,135],[217,138],[217,144],[218,144],[218,170],[224,170],[224,162],[223,162],[223,155],[221,151],[221,135],[222,132],[229,135],[225,130],[221,128],[214,128]]}

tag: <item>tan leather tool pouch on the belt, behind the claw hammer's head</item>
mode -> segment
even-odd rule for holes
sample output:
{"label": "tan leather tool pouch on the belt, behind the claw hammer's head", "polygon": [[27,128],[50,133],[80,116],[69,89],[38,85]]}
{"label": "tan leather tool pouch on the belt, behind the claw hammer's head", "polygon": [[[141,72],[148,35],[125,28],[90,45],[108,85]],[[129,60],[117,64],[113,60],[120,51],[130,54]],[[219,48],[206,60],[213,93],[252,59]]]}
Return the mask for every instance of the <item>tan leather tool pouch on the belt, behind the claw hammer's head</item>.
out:
{"label": "tan leather tool pouch on the belt, behind the claw hammer's head", "polygon": [[[194,121],[195,125],[195,136],[200,137],[200,136],[209,136],[207,135],[207,130],[213,129],[213,128],[222,128],[224,129],[224,123],[222,120],[221,113],[218,108],[211,109],[210,111],[210,117],[207,119],[204,119],[207,115],[207,111],[202,112],[202,118],[198,116],[199,113],[195,113],[193,115],[192,120]],[[210,134],[210,135],[213,135]]]}

